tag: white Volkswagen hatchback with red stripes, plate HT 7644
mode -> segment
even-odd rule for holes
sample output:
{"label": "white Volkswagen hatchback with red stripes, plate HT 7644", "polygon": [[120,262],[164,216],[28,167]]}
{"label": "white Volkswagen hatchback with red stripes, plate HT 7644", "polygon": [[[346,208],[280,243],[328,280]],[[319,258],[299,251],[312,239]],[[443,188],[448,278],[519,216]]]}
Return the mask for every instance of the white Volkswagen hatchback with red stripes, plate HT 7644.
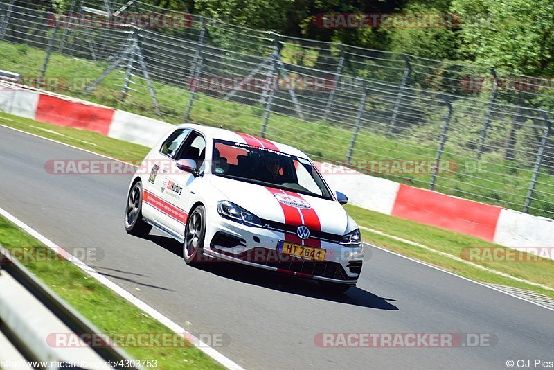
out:
{"label": "white Volkswagen hatchback with red stripes, plate HT 7644", "polygon": [[125,229],[183,243],[188,264],[233,261],[317,279],[343,292],[364,259],[356,222],[300,150],[260,137],[180,125],[129,186]]}

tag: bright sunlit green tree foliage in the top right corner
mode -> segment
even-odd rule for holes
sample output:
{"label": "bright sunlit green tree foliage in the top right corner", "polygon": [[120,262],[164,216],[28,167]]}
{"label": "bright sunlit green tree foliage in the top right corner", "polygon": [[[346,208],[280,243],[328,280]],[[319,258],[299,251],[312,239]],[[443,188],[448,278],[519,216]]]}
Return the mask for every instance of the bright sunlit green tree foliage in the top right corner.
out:
{"label": "bright sunlit green tree foliage in the top right corner", "polygon": [[551,0],[453,0],[466,58],[531,76],[554,72]]}

